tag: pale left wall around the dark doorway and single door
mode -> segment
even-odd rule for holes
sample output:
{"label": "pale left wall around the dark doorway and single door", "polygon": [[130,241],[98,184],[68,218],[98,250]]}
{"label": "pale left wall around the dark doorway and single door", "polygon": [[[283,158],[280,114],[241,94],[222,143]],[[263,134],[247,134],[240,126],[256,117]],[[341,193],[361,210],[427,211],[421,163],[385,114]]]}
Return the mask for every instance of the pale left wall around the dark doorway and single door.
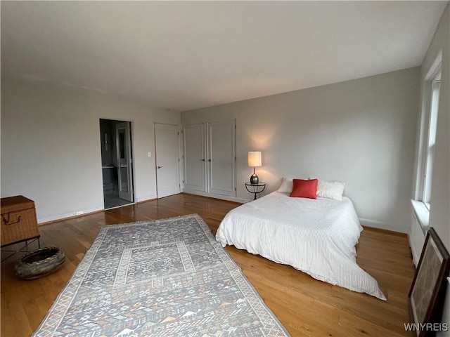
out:
{"label": "pale left wall around the dark doorway and single door", "polygon": [[131,121],[135,199],[155,198],[154,123],[179,125],[180,112],[6,79],[1,81],[1,197],[33,199],[39,223],[103,209],[101,118]]}

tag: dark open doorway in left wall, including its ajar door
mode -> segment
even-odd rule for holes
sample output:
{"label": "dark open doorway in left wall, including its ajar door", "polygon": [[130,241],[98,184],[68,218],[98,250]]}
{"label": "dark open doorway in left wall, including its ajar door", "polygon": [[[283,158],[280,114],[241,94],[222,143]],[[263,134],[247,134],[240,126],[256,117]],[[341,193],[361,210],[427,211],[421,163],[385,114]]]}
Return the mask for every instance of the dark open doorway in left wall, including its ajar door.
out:
{"label": "dark open doorway in left wall, including its ajar door", "polygon": [[134,202],[131,123],[100,119],[105,209]]}

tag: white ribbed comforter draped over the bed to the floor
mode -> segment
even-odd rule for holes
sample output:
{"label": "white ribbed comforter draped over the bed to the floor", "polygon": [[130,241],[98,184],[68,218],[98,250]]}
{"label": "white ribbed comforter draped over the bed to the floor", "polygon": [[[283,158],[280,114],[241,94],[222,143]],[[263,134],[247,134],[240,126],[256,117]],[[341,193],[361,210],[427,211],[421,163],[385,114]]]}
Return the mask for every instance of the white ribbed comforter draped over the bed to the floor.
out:
{"label": "white ribbed comforter draped over the bed to the floor", "polygon": [[362,227],[352,201],[292,198],[273,192],[226,214],[217,230],[234,245],[315,279],[386,300],[376,280],[356,264]]}

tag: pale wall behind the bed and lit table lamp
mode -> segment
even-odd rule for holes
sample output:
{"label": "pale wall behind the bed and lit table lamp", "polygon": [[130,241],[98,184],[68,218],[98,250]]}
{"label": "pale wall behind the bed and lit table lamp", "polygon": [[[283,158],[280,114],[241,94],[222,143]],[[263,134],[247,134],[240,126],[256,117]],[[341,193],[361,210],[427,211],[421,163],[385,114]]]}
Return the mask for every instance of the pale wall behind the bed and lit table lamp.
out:
{"label": "pale wall behind the bed and lit table lamp", "polygon": [[182,124],[236,118],[238,198],[252,169],[268,192],[283,176],[347,183],[363,225],[407,232],[419,98],[418,67],[181,112]]}

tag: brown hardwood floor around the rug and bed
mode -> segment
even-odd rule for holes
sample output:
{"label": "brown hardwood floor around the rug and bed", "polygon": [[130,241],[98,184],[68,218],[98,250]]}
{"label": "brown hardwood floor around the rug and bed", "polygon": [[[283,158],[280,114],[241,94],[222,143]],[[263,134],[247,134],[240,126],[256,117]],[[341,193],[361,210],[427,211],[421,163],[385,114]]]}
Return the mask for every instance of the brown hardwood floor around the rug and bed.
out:
{"label": "brown hardwood floor around the rug and bed", "polygon": [[[19,254],[1,263],[1,336],[30,336],[37,329],[102,225],[198,213],[215,234],[221,219],[236,206],[178,194],[39,227],[41,246],[63,249],[65,265],[53,275],[22,281],[14,276]],[[366,229],[357,246],[359,265],[378,280],[386,302],[317,281],[234,246],[226,251],[291,336],[411,336],[404,323],[409,322],[407,295],[414,267],[404,236]]]}

